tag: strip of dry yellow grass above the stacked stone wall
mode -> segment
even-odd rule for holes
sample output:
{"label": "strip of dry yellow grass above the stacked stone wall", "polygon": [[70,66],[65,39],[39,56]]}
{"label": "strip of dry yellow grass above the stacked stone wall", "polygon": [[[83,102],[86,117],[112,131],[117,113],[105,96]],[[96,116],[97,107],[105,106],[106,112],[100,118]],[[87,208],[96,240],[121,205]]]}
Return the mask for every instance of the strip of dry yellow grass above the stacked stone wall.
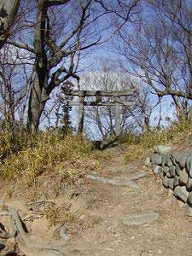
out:
{"label": "strip of dry yellow grass above the stacked stone wall", "polygon": [[120,139],[121,143],[125,143],[129,147],[125,162],[128,163],[143,158],[155,145],[180,143],[183,138],[189,137],[191,131],[192,121],[182,119],[180,122],[173,123],[169,128],[162,130],[154,128],[154,130],[145,132],[142,136],[127,134]]}

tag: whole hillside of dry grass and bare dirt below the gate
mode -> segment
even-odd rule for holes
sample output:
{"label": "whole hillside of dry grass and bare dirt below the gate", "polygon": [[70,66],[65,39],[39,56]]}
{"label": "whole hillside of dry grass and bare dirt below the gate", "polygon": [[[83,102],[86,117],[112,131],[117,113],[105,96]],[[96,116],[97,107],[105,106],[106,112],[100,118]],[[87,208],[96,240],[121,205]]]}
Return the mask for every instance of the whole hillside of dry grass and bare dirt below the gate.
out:
{"label": "whole hillside of dry grass and bare dirt below the gate", "polygon": [[143,166],[155,144],[191,148],[190,127],[129,134],[104,151],[81,136],[44,134],[31,143],[17,137],[18,148],[11,145],[13,137],[3,137],[2,145],[9,143],[1,154],[0,222],[10,238],[1,240],[2,255],[24,255],[3,215],[10,207],[28,230],[31,247],[19,246],[24,252],[49,245],[64,255],[190,255],[191,219]]}

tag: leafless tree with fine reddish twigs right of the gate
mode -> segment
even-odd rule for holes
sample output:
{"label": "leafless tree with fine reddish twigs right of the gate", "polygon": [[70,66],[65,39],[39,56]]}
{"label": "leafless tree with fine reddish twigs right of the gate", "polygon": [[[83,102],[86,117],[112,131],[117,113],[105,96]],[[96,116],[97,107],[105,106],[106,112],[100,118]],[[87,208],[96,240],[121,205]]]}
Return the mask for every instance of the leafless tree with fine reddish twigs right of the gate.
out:
{"label": "leafless tree with fine reddish twigs right of the gate", "polygon": [[126,27],[121,30],[117,49],[128,61],[129,73],[148,84],[155,95],[171,96],[179,117],[188,113],[192,100],[191,3],[152,0],[144,4],[151,15],[144,13],[132,32]]}

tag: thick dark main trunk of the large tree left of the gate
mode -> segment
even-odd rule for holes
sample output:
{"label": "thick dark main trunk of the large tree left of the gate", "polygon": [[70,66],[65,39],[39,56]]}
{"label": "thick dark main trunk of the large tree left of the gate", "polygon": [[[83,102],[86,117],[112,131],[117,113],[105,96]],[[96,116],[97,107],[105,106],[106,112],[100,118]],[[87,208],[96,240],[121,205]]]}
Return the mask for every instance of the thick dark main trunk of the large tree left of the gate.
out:
{"label": "thick dark main trunk of the large tree left of the gate", "polygon": [[28,129],[38,130],[39,119],[44,110],[47,99],[43,98],[46,94],[45,88],[48,83],[48,61],[45,52],[45,33],[47,21],[47,1],[40,0],[38,3],[38,17],[35,26],[34,51],[36,54],[35,79],[30,92],[28,108]]}

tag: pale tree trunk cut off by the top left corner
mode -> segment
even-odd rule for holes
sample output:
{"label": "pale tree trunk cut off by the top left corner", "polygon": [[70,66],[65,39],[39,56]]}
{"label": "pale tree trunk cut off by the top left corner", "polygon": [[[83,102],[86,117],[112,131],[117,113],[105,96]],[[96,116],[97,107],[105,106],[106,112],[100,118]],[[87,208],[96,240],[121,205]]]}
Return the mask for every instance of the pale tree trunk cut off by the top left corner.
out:
{"label": "pale tree trunk cut off by the top left corner", "polygon": [[0,0],[0,49],[9,36],[9,28],[14,23],[19,5],[20,0]]}

